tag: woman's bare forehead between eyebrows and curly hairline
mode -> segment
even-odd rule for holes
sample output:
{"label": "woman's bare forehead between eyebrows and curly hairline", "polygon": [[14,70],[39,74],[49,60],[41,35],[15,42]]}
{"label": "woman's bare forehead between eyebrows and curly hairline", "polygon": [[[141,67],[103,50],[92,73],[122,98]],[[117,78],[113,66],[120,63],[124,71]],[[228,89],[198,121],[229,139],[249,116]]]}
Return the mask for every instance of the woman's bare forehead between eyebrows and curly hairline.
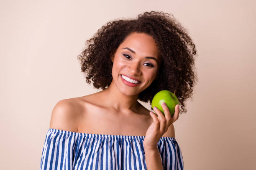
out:
{"label": "woman's bare forehead between eyebrows and curly hairline", "polygon": [[136,52],[136,55],[158,57],[159,51],[153,37],[145,33],[132,33],[128,35],[123,43],[120,44],[119,50],[129,47]]}

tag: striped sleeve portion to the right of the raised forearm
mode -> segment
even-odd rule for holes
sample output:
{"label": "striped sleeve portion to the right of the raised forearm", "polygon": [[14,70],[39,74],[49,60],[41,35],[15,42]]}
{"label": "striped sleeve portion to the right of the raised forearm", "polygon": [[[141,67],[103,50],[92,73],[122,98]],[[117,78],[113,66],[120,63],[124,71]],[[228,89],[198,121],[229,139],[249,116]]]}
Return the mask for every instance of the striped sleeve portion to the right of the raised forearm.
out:
{"label": "striped sleeve portion to the right of the raised forearm", "polygon": [[184,170],[182,152],[175,138],[165,137],[158,149],[164,170]]}

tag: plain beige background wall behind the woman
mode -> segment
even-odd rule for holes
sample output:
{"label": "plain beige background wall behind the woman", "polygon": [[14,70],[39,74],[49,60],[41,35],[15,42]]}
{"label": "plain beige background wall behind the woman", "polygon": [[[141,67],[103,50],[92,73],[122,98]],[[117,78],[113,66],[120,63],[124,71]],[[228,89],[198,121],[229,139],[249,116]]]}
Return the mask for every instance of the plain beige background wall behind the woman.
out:
{"label": "plain beige background wall behind the woman", "polygon": [[187,28],[198,51],[193,99],[174,122],[185,170],[255,170],[255,5],[253,0],[1,0],[0,169],[39,169],[54,105],[97,91],[86,84],[77,55],[98,28],[162,10]]}

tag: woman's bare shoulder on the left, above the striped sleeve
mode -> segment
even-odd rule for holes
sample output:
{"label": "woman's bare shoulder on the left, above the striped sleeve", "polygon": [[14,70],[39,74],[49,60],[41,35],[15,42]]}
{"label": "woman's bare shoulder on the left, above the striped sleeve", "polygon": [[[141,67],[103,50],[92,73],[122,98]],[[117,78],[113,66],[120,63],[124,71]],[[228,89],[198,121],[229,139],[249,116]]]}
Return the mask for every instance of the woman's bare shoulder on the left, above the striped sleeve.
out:
{"label": "woman's bare shoulder on the left, above the striped sleeve", "polygon": [[52,110],[50,128],[77,132],[79,109],[77,98],[60,100]]}

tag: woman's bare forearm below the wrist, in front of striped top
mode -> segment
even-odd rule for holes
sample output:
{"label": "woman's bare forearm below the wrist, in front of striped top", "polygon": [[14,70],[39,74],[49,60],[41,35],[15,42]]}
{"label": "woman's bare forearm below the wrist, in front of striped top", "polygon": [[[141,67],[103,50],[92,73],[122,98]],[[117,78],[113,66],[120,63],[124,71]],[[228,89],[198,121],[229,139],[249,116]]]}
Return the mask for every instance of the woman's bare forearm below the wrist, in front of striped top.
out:
{"label": "woman's bare forearm below the wrist, in front of striped top", "polygon": [[147,170],[164,170],[159,150],[144,147]]}

